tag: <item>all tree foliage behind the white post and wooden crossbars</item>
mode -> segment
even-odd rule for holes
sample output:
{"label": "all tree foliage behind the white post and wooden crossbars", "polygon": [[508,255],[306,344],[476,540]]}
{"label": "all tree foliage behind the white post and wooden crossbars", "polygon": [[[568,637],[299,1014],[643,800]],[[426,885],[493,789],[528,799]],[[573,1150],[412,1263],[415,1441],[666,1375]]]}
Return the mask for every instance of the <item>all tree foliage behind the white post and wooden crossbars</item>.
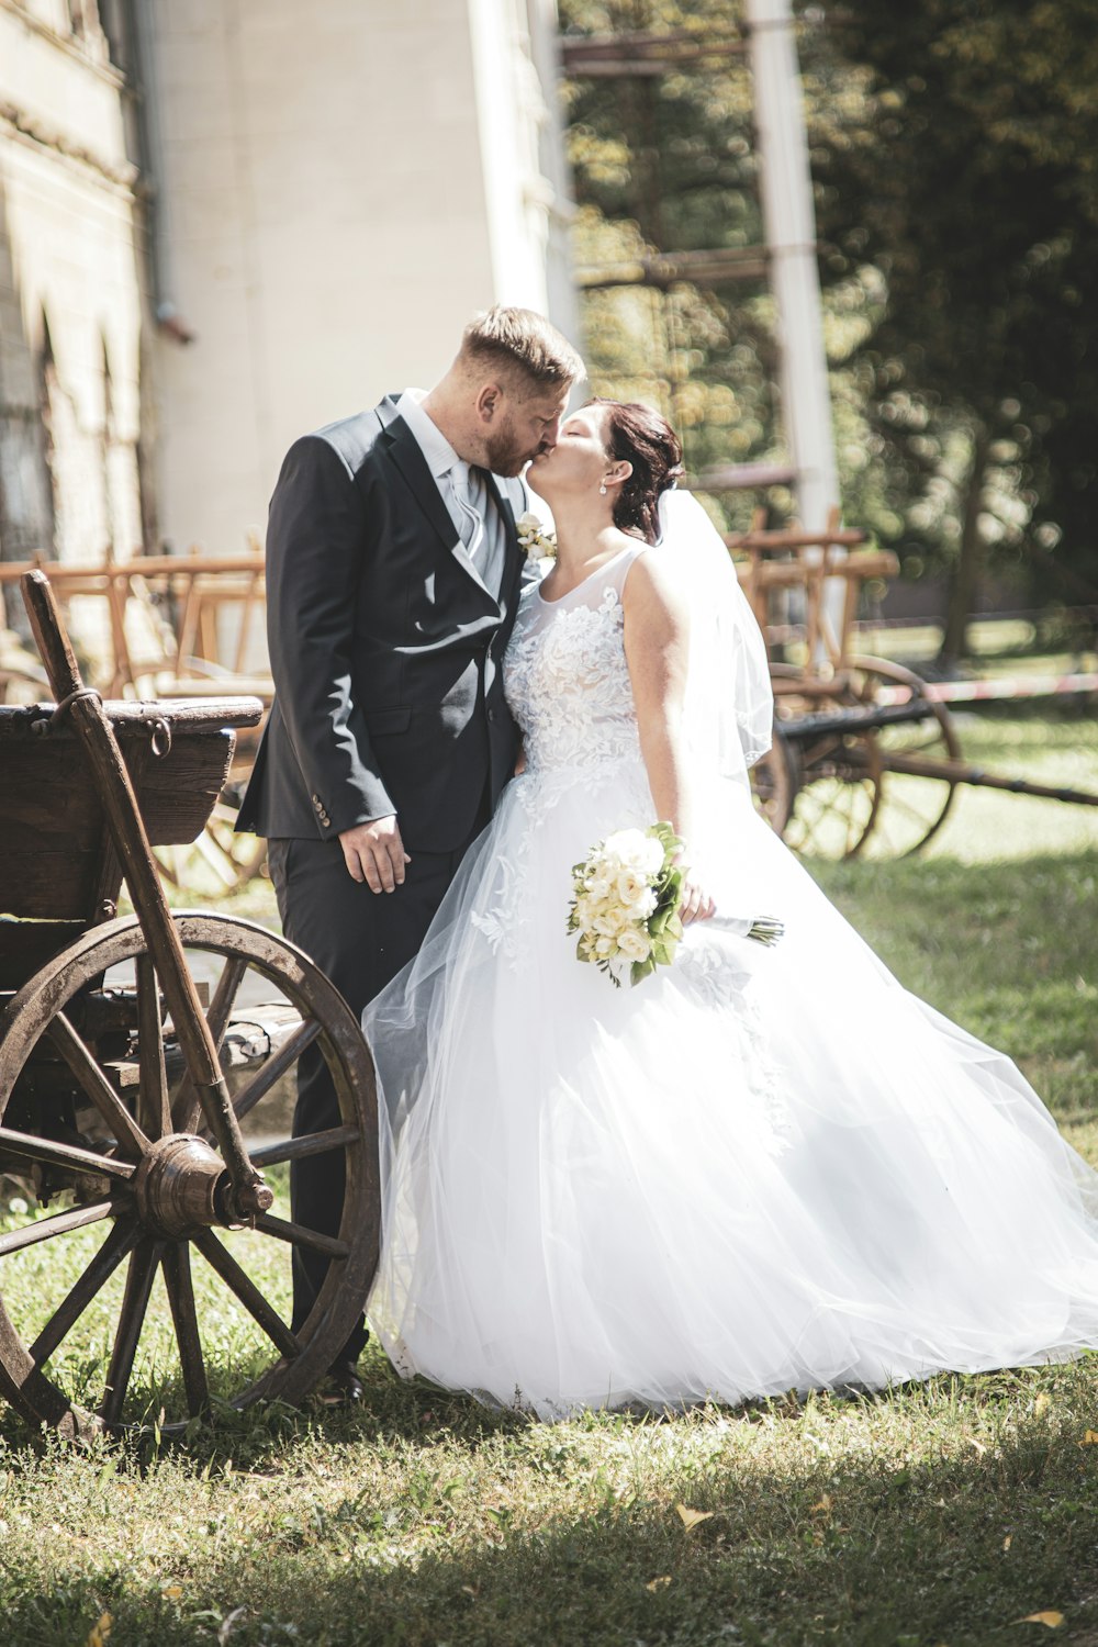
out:
{"label": "all tree foliage behind the white post and wooden crossbars", "polygon": [[[719,0],[561,0],[561,20],[739,21]],[[1091,0],[835,0],[802,10],[798,49],[848,517],[912,573],[991,553],[1096,600]],[[575,81],[570,115],[581,264],[762,240],[744,58]],[[599,385],[662,404],[693,468],[780,456],[765,282],[586,301]]]}

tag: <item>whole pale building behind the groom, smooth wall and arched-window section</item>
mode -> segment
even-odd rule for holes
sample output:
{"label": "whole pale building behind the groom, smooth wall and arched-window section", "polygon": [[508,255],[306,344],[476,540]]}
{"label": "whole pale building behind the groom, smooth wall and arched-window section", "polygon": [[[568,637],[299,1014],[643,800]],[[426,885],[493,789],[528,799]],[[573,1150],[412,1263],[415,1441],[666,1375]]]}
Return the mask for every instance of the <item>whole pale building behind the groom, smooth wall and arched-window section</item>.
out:
{"label": "whole pale building behind the groom, smooth wall and arched-window section", "polygon": [[0,557],[262,532],[286,445],[576,334],[553,0],[0,0]]}

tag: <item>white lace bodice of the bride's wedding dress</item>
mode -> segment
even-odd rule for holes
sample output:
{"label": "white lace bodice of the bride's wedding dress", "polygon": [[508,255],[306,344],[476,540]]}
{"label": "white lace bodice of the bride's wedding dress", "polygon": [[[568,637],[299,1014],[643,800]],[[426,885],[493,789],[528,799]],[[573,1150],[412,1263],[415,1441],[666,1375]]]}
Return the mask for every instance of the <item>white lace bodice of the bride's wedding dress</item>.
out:
{"label": "white lace bodice of the bride's wedding dress", "polygon": [[527,590],[504,659],[527,771],[640,759],[621,595],[644,548],[624,548],[560,600]]}

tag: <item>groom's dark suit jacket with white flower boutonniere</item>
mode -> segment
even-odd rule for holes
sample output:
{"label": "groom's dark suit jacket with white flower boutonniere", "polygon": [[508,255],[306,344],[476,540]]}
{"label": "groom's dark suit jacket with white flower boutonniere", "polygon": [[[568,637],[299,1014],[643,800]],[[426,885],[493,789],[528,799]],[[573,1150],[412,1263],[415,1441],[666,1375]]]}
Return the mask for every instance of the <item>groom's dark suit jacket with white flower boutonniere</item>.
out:
{"label": "groom's dark suit jacket with white flower boutonniere", "polygon": [[395,812],[408,851],[468,840],[519,743],[500,660],[525,488],[491,476],[489,492],[507,530],[499,601],[393,397],[290,448],[267,530],[275,702],[237,828],[334,840]]}

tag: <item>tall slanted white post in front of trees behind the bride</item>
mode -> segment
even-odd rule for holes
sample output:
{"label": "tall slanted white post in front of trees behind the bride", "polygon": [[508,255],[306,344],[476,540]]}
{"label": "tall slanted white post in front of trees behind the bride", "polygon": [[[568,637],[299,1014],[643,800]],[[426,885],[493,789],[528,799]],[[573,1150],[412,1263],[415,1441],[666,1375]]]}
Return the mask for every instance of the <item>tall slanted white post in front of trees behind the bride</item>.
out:
{"label": "tall slanted white post in front of trees behind the bride", "polygon": [[790,0],[744,0],[754,76],[762,216],[777,303],[782,422],[803,525],[840,502],[823,348],[817,217]]}

